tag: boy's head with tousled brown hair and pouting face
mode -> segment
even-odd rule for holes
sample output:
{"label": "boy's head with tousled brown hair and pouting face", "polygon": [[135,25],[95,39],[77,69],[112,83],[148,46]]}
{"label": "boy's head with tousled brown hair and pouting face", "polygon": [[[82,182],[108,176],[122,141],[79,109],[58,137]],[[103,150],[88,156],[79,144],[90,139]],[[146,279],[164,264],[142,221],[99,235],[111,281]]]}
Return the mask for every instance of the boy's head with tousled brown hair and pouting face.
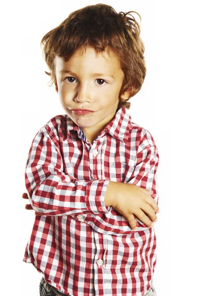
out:
{"label": "boy's head with tousled brown hair and pouting face", "polygon": [[[105,118],[107,123],[120,107],[130,109],[128,100],[142,86],[144,45],[138,23],[127,16],[130,12],[117,13],[106,4],[89,5],[72,12],[41,40],[51,71],[46,74],[55,83],[66,113],[79,126],[88,127],[94,120],[91,126],[104,123]],[[95,112],[81,116],[72,108]]]}

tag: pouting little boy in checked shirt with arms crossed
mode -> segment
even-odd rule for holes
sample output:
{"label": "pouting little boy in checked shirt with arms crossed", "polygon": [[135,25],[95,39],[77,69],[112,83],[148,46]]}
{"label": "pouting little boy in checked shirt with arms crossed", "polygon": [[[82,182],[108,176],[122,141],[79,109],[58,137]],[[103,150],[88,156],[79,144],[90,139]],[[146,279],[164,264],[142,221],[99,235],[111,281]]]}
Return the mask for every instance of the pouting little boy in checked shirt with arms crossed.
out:
{"label": "pouting little boy in checked shirt with arms crossed", "polygon": [[41,40],[66,114],[37,132],[25,171],[40,296],[156,296],[159,154],[128,111],[146,67],[127,14],[89,5]]}

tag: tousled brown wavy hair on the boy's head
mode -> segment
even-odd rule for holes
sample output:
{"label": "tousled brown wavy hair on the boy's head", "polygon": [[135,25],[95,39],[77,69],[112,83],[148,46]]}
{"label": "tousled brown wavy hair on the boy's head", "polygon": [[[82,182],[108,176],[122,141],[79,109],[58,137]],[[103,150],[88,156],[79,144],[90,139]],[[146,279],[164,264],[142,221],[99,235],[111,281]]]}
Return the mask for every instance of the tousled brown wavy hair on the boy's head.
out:
{"label": "tousled brown wavy hair on the boy's head", "polygon": [[[144,60],[144,43],[140,38],[140,26],[130,14],[136,11],[117,13],[106,4],[88,5],[73,11],[58,27],[42,37],[40,45],[44,46],[42,54],[50,70],[45,73],[51,76],[51,85],[56,82],[55,57],[68,61],[78,49],[88,46],[95,49],[96,54],[112,50],[120,61],[124,72],[124,80],[119,92],[119,105],[130,109],[128,100],[141,89],[146,75]],[[121,95],[133,86],[127,100]]]}

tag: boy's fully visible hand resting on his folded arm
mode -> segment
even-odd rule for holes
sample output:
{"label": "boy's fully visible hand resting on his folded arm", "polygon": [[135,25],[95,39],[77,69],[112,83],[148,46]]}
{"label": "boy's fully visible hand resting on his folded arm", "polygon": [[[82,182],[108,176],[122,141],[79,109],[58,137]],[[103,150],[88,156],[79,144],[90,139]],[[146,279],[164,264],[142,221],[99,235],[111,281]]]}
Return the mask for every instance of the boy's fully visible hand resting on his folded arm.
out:
{"label": "boy's fully visible hand resting on his folded arm", "polygon": [[116,196],[111,206],[127,219],[132,229],[137,227],[134,215],[148,227],[152,227],[153,222],[156,222],[155,213],[159,212],[159,207],[151,194],[153,191],[133,184],[117,183]]}

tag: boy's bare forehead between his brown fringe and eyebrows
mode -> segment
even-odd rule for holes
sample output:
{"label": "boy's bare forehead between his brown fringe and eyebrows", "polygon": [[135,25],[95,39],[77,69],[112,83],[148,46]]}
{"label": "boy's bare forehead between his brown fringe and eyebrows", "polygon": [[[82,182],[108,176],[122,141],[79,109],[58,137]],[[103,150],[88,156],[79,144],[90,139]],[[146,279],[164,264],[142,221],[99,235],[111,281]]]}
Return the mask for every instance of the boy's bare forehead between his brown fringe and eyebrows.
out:
{"label": "boy's bare forehead between his brown fringe and eyebrows", "polygon": [[[65,62],[63,58],[56,56],[55,58],[56,70],[62,71],[67,67],[72,67],[76,69],[86,68],[94,71],[120,71],[120,61],[115,53],[110,50],[109,52],[103,51],[97,53],[92,47],[87,47],[86,49],[79,49],[69,61]],[[97,67],[97,69],[95,69]],[[69,69],[70,70],[70,69]]]}

